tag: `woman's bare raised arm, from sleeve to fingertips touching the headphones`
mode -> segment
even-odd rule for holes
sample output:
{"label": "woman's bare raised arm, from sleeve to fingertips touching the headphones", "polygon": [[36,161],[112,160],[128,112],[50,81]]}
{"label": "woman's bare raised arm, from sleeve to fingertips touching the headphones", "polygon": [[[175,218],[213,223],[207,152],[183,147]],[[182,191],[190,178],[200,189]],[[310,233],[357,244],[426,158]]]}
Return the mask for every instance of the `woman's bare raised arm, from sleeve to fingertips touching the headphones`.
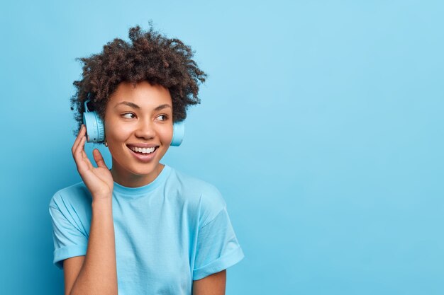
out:
{"label": "woman's bare raised arm, from sleeve to fingertips touching the headphones", "polygon": [[[116,270],[116,245],[112,210],[113,177],[106,167],[104,158],[98,149],[93,150],[97,167],[92,166],[84,151],[86,128],[82,128],[72,146],[72,156],[82,180],[91,192],[91,226],[87,255],[79,270],[79,260],[67,263],[68,272],[65,277],[70,279],[70,295],[114,295],[118,294]],[[65,265],[65,263],[64,263]],[[78,272],[78,275],[76,275]],[[65,287],[69,289],[69,287]]]}

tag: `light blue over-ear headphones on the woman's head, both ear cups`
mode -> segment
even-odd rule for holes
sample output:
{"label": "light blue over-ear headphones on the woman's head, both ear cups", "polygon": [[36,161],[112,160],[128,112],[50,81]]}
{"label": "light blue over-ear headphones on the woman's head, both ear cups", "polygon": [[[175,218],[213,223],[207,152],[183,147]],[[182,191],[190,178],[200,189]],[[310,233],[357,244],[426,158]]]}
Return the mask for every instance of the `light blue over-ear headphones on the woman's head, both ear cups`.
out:
{"label": "light blue over-ear headphones on the woman's head, both ear cups", "polygon": [[[88,96],[89,97],[89,96]],[[83,124],[87,127],[87,142],[102,143],[105,141],[105,127],[104,122],[97,115],[96,111],[89,111],[87,103],[89,99],[84,102],[85,112],[83,113]],[[172,126],[172,146],[179,146],[182,144],[185,134],[185,123],[175,122]]]}

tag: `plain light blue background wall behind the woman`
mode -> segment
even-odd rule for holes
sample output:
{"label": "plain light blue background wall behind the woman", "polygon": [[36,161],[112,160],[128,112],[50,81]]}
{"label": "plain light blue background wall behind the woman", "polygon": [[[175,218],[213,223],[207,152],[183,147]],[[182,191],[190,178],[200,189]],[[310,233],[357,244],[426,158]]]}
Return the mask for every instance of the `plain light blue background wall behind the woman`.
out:
{"label": "plain light blue background wall behind the woman", "polygon": [[1,3],[1,294],[62,294],[74,58],[149,19],[209,74],[164,163],[223,192],[227,294],[444,294],[442,1],[130,2]]}

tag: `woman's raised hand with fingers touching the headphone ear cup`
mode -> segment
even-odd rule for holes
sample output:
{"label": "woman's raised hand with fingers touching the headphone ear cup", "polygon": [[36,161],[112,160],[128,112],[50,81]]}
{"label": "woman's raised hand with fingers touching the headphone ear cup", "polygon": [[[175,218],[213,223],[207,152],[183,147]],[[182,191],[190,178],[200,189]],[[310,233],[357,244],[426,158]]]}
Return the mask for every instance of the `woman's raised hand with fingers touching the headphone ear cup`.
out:
{"label": "woman's raised hand with fingers touching the headphone ear cup", "polygon": [[113,176],[109,168],[106,167],[104,158],[98,149],[92,151],[97,167],[92,166],[84,150],[84,144],[87,140],[86,133],[87,128],[82,125],[71,149],[77,171],[79,171],[80,177],[91,192],[93,200],[111,198],[114,185]]}

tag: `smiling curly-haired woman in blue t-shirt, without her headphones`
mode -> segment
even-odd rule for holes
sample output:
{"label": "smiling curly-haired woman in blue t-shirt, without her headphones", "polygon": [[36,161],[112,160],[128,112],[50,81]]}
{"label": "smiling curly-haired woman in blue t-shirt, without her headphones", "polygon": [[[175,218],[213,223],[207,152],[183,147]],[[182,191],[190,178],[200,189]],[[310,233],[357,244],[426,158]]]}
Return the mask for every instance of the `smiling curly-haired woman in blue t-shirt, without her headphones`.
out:
{"label": "smiling curly-haired woman in blue t-shirt, without her headphones", "polygon": [[[173,124],[200,100],[206,74],[190,47],[137,26],[80,59],[72,156],[82,182],[50,201],[54,263],[65,294],[225,294],[226,268],[243,259],[226,203],[209,183],[160,163]],[[104,122],[112,168],[84,152],[82,114]]]}

